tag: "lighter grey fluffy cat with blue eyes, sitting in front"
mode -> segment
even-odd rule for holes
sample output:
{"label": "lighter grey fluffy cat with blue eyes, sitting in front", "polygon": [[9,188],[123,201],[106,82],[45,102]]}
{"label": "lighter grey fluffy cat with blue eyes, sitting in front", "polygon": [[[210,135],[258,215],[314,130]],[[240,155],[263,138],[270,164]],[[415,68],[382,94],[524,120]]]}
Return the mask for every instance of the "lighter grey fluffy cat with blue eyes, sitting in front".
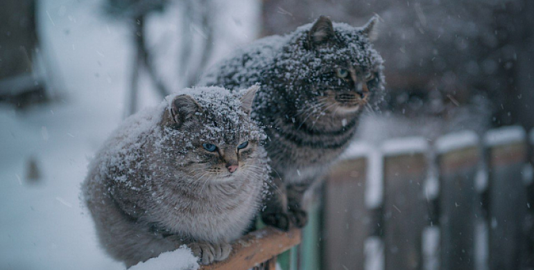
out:
{"label": "lighter grey fluffy cat with blue eyes, sitting in front", "polygon": [[249,115],[257,89],[185,89],[108,139],[83,198],[112,257],[131,267],[187,244],[203,264],[227,258],[270,172]]}

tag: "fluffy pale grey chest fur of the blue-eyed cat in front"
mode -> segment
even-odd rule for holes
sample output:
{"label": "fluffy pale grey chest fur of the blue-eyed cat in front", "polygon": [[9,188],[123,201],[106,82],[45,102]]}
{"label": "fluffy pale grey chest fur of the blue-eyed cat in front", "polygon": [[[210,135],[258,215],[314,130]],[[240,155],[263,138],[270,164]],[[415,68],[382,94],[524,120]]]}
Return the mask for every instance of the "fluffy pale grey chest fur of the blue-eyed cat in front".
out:
{"label": "fluffy pale grey chest fur of the blue-eyed cat in front", "polygon": [[146,192],[141,206],[150,222],[194,241],[230,242],[241,236],[255,215],[262,183],[239,177],[232,184],[161,187]]}

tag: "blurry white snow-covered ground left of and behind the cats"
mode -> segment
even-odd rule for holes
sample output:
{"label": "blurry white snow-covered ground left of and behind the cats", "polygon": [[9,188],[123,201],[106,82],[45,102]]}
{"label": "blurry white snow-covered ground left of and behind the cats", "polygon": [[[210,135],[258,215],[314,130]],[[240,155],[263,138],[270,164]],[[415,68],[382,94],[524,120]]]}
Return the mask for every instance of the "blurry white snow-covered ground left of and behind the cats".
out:
{"label": "blurry white snow-covered ground left of and behind the cats", "polygon": [[[128,28],[98,12],[93,1],[42,1],[43,51],[62,81],[60,100],[0,107],[0,269],[123,269],[98,247],[79,199],[89,159],[122,119],[132,62]],[[225,1],[218,17],[226,23],[215,58],[258,33],[257,1]],[[160,101],[141,85],[141,107]],[[37,183],[26,181],[30,159]]]}

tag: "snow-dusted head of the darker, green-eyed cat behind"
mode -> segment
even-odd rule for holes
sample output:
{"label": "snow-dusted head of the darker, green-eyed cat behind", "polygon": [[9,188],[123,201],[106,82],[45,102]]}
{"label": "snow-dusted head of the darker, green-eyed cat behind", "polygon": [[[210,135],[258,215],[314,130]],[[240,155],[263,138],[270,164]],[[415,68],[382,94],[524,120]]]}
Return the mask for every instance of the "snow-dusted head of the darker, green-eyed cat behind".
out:
{"label": "snow-dusted head of the darker, green-eyed cat behind", "polygon": [[356,28],[319,17],[295,31],[277,64],[291,73],[286,89],[295,97],[295,107],[343,114],[377,101],[384,89],[384,61],[371,43],[377,22],[373,17]]}

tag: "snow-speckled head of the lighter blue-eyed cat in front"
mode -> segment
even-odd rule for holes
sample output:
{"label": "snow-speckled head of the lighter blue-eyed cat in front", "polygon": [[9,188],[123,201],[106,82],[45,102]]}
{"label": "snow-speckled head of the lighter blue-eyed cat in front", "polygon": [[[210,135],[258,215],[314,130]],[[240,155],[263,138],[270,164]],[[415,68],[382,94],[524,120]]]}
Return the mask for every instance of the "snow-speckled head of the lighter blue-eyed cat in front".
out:
{"label": "snow-speckled head of the lighter blue-eyed cat in front", "polygon": [[264,133],[250,118],[258,86],[241,91],[221,87],[182,89],[166,99],[162,144],[182,170],[214,181],[255,170],[264,158]]}

